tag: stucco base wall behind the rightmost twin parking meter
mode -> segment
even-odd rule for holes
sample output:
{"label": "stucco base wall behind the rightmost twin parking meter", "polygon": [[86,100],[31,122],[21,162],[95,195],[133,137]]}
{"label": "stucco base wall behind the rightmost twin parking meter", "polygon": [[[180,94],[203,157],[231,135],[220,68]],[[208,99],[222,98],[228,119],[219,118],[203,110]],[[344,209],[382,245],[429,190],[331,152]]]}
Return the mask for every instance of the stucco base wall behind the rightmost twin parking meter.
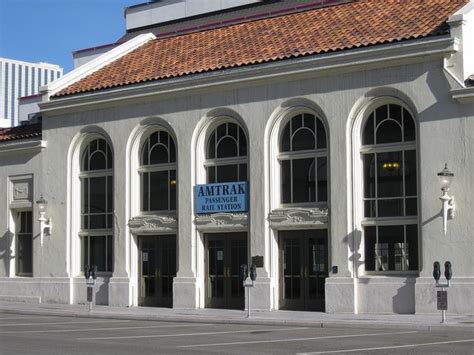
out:
{"label": "stucco base wall behind the rightmost twin parking meter", "polygon": [[[445,283],[444,277],[441,278]],[[415,285],[416,313],[439,313],[436,309],[436,291],[432,277],[419,278]],[[448,310],[452,314],[474,313],[474,277],[459,277],[451,280],[448,291]]]}

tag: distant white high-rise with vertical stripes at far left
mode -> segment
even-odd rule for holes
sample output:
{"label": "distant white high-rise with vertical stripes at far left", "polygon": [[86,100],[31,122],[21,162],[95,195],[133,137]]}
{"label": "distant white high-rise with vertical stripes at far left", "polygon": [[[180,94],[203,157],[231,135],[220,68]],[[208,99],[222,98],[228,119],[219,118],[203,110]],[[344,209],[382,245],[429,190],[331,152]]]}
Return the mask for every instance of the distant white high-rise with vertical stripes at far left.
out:
{"label": "distant white high-rise with vertical stripes at far left", "polygon": [[42,85],[62,75],[63,68],[56,64],[0,58],[0,127],[17,126],[22,120],[18,99],[38,95]]}

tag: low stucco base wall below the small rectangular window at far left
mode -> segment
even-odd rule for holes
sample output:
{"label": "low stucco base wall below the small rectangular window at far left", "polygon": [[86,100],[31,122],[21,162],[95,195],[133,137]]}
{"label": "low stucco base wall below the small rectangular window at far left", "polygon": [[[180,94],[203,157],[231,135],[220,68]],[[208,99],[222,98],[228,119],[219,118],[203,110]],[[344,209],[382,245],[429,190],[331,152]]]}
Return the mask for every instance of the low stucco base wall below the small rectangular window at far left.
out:
{"label": "low stucco base wall below the small rectangular window at far left", "polygon": [[69,303],[69,278],[0,278],[0,299],[28,303]]}

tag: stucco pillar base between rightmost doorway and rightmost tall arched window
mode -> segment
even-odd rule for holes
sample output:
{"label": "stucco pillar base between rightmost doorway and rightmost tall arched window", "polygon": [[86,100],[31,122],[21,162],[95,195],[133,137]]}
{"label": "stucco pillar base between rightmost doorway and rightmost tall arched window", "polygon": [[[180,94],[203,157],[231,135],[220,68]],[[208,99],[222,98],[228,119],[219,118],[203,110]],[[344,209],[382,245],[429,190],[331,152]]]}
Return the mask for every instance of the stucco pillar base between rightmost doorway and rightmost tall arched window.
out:
{"label": "stucco pillar base between rightmost doorway and rightmost tall arched window", "polygon": [[349,277],[328,277],[326,279],[326,312],[354,312],[354,281]]}

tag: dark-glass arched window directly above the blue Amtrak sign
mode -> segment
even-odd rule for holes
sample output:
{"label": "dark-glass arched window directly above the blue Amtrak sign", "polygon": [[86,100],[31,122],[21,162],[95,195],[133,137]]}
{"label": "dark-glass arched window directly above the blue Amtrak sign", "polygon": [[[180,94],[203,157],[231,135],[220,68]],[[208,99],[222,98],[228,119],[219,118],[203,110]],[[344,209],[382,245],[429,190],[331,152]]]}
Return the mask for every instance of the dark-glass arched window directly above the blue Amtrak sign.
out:
{"label": "dark-glass arched window directly above the blue Amtrak sign", "polygon": [[238,124],[222,123],[211,132],[204,166],[210,184],[247,180],[247,138]]}

